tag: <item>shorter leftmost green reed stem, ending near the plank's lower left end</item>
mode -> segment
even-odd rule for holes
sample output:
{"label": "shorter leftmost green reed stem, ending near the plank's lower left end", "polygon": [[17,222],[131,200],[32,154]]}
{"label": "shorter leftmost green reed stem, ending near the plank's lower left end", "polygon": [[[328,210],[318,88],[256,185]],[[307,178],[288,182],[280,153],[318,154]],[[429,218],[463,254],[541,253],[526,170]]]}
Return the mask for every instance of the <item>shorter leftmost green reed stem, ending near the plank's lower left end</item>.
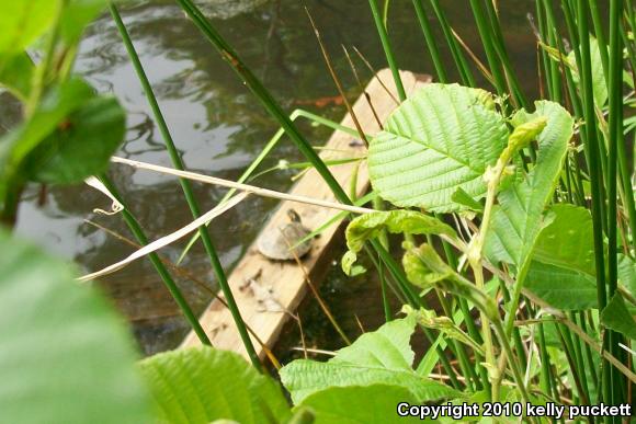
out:
{"label": "shorter leftmost green reed stem, ending near the plank's lower left end", "polygon": [[[141,245],[148,244],[148,238],[144,233],[141,226],[139,225],[137,219],[135,219],[133,214],[128,211],[129,209],[126,206],[126,203],[122,199],[122,196],[118,194],[115,185],[105,174],[100,175],[100,181],[104,184],[104,186],[109,190],[109,192],[111,192],[111,194],[117,199],[117,202],[120,202],[124,206],[124,209],[122,210],[122,217],[124,218],[124,221],[126,222],[126,225],[130,229],[130,232],[133,232],[133,236],[135,236],[139,244]],[[177,286],[177,283],[174,283],[174,279],[172,279],[172,277],[170,276],[170,273],[163,265],[163,262],[161,262],[161,260],[156,253],[149,253],[148,259],[152,263],[152,266],[155,266],[155,270],[157,270],[157,273],[161,277],[161,280],[166,285],[166,288],[168,288],[168,291],[170,291],[170,295],[172,295],[172,298],[179,306],[179,309],[185,317],[185,320],[188,321],[190,326],[192,326],[192,330],[194,331],[201,343],[204,345],[212,346],[212,342],[207,337],[207,334],[205,334],[205,331],[201,326],[198,319],[196,318],[194,312],[192,312],[190,305],[188,305],[188,301],[185,300],[185,297]]]}

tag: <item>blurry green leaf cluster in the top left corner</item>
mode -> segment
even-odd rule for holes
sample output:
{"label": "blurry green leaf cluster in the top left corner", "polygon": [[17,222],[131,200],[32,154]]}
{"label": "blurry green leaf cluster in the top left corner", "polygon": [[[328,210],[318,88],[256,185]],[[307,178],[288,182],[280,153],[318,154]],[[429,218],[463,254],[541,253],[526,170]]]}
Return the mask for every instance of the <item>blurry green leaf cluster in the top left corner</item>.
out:
{"label": "blurry green leaf cluster in the top left corner", "polygon": [[[2,1],[0,85],[23,121],[0,138],[0,218],[11,225],[27,182],[79,183],[103,172],[124,140],[125,112],[72,76],[84,27],[102,0]],[[32,57],[41,57],[36,62]]]}

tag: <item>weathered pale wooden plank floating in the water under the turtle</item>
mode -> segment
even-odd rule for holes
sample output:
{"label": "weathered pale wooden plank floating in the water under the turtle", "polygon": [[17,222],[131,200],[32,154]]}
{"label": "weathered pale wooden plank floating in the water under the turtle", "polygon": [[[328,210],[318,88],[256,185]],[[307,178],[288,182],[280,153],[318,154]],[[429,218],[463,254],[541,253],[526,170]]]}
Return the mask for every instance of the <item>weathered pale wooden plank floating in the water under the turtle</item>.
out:
{"label": "weathered pale wooden plank floating in the water under the turtle", "polygon": [[[397,94],[395,94],[395,84],[388,69],[379,71],[365,90],[378,118],[385,121],[390,112],[395,110],[396,102],[387,94],[378,78],[394,93],[395,98],[397,98]],[[430,82],[430,77],[428,76],[417,76],[406,71],[401,72],[401,79],[407,93],[413,92],[417,88]],[[353,110],[366,134],[375,134],[379,130],[373,110],[364,95],[357,99]],[[349,114],[342,121],[342,125],[354,127]],[[340,131],[333,133],[326,147],[327,149],[321,154],[325,159],[360,157],[366,150],[364,145],[354,142],[353,137]],[[350,187],[354,167],[355,164],[342,164],[330,168],[333,176],[345,190]],[[366,193],[368,184],[367,169],[363,164],[357,172],[359,196]],[[291,193],[334,202],[331,191],[315,170],[307,172],[291,190]],[[337,210],[332,209],[283,202],[262,231],[275,230],[288,222],[287,210],[289,208],[298,213],[303,224],[310,229],[318,228],[338,214]],[[313,241],[311,250],[303,259],[303,266],[314,284],[318,284],[325,276],[328,264],[333,259],[333,249],[330,249],[330,247],[333,247],[337,236],[338,226],[331,226]],[[307,285],[303,270],[294,261],[270,261],[258,252],[255,244],[252,244],[228,279],[243,320],[268,347],[273,347],[283,325],[289,318],[289,314],[285,311],[295,311],[306,294]],[[248,284],[250,280],[252,283]],[[269,290],[265,297],[262,295],[263,290]],[[268,303],[273,303],[273,307],[272,305],[268,306]],[[283,311],[275,311],[279,306],[282,306]],[[215,347],[239,352],[247,357],[231,314],[222,302],[214,300],[201,317],[201,323]],[[255,340],[252,339],[252,341],[259,356],[262,358],[264,356],[263,349]],[[191,332],[185,337],[182,346],[198,344],[196,335]]]}

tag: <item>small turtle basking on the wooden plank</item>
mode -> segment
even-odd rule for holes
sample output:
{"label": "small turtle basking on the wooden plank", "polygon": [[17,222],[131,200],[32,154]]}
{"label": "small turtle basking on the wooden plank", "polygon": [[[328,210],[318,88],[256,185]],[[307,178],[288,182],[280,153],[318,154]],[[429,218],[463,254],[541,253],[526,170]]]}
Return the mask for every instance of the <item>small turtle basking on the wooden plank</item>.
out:
{"label": "small turtle basking on the wooden plank", "polygon": [[[294,253],[297,257],[303,257],[311,249],[311,240],[296,245],[310,232],[300,221],[298,213],[287,209],[287,217],[289,222],[270,228],[259,236],[257,249],[263,256],[275,261],[293,261]],[[289,249],[292,247],[295,247],[293,251]]]}

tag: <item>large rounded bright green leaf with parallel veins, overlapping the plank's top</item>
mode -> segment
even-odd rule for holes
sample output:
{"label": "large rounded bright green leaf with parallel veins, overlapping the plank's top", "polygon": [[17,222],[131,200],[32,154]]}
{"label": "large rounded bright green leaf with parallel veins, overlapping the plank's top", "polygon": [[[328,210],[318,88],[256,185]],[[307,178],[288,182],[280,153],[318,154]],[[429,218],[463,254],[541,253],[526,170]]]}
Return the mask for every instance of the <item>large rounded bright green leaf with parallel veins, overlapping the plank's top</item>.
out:
{"label": "large rounded bright green leaf with parallel veins, overlapping the plank's top", "polygon": [[450,213],[458,187],[486,195],[482,175],[506,147],[508,128],[490,93],[428,84],[405,101],[371,141],[368,170],[381,197],[401,207]]}

